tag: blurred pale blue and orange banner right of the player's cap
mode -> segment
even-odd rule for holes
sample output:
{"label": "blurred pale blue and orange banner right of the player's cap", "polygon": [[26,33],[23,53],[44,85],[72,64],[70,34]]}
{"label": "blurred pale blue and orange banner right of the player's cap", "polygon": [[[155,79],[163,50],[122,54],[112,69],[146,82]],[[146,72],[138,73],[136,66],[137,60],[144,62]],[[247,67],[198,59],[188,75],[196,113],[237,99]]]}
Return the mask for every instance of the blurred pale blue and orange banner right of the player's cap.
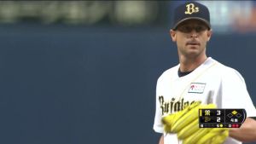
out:
{"label": "blurred pale blue and orange banner right of the player's cap", "polygon": [[[172,10],[185,1],[170,2]],[[205,4],[211,14],[212,30],[217,33],[256,32],[255,1],[197,1]],[[171,22],[171,21],[170,21]],[[172,23],[172,22],[171,22]]]}

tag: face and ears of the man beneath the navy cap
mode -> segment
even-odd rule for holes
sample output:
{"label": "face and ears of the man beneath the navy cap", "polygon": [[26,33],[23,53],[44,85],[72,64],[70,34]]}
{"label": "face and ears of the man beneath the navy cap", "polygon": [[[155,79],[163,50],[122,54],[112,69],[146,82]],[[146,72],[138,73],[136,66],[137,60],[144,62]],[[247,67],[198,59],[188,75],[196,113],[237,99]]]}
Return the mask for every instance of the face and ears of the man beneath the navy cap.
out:
{"label": "face and ears of the man beneath the navy cap", "polygon": [[201,20],[186,20],[177,26],[177,30],[171,30],[170,34],[172,41],[177,43],[180,56],[195,58],[206,55],[206,46],[212,31]]}

